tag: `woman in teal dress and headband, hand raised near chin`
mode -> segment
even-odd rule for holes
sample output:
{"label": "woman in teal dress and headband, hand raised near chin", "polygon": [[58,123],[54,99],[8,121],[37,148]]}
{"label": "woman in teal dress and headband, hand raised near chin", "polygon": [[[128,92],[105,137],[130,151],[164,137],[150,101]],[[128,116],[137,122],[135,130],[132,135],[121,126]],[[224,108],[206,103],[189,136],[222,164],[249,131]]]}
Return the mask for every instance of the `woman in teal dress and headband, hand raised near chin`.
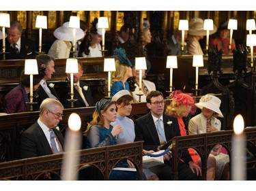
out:
{"label": "woman in teal dress and headband, hand raised near chin", "polygon": [[[93,119],[89,122],[85,135],[87,136],[88,147],[104,147],[117,144],[117,137],[122,133],[122,126],[117,124],[111,125],[117,118],[117,107],[115,101],[111,99],[101,99],[96,103],[96,110]],[[125,159],[117,162],[115,167],[129,168]],[[137,179],[136,171],[111,171],[109,179]]]}

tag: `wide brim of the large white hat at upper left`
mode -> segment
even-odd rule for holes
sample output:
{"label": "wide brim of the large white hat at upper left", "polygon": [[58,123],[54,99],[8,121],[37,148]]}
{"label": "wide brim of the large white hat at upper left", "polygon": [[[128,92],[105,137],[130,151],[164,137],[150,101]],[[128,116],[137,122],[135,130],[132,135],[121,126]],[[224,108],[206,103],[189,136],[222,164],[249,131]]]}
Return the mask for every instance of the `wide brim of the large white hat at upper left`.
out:
{"label": "wide brim of the large white hat at upper left", "polygon": [[[72,28],[68,28],[68,27],[59,27],[57,29],[55,29],[55,31],[53,32],[53,35],[62,41],[73,41],[73,29]],[[85,33],[83,32],[82,29],[76,29],[76,36],[75,36],[75,40],[79,40],[82,39],[83,37],[85,37]]]}

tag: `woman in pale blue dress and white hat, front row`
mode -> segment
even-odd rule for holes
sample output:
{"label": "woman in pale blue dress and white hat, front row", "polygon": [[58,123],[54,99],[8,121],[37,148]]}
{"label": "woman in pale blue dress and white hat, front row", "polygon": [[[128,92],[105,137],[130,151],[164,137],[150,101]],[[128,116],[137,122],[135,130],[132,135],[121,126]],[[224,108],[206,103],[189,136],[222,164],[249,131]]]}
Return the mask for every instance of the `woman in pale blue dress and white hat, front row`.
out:
{"label": "woman in pale blue dress and white hat, front row", "polygon": [[[132,111],[133,97],[128,90],[120,90],[113,97],[112,101],[115,101],[117,106],[117,119],[115,122],[111,122],[112,126],[117,124],[121,125],[122,132],[117,135],[117,144],[120,143],[132,143],[135,138],[134,122],[128,116]],[[150,151],[151,153],[154,151]],[[127,160],[129,167],[134,168],[132,162]],[[156,174],[152,173],[149,169],[143,169],[147,179],[158,180]]]}

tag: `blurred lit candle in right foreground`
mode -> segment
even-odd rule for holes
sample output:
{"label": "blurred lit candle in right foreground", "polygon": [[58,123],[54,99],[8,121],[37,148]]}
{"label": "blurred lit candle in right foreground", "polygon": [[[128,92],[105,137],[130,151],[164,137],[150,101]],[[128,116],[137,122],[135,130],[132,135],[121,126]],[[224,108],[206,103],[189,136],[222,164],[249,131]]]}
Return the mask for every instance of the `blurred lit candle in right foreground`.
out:
{"label": "blurred lit candle in right foreground", "polygon": [[231,179],[244,180],[246,179],[246,164],[245,164],[245,137],[244,119],[239,114],[233,121],[233,139],[231,150]]}

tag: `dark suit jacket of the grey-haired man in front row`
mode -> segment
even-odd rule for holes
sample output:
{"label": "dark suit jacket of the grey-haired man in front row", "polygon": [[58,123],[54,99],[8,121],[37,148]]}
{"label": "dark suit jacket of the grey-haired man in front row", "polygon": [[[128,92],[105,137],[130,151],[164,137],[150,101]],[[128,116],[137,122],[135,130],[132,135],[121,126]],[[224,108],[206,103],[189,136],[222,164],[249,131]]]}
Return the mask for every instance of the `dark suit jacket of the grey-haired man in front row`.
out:
{"label": "dark suit jacket of the grey-haired man in front row", "polygon": [[[56,128],[53,129],[59,139],[62,148],[64,143],[63,135]],[[21,158],[30,158],[35,156],[44,156],[53,154],[42,128],[38,122],[32,124],[20,137],[20,156]]]}

